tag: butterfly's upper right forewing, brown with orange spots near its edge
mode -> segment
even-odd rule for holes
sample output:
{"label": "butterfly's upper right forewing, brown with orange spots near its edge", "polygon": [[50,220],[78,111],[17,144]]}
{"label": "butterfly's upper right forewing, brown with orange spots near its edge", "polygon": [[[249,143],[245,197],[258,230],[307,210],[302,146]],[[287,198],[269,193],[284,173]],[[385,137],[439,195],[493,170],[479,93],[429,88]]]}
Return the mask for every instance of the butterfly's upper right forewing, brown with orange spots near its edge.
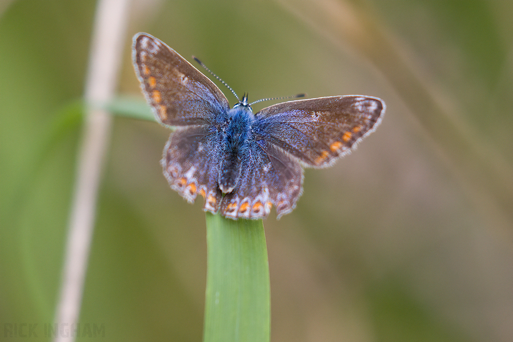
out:
{"label": "butterfly's upper right forewing, brown with orange spots near its edge", "polygon": [[295,100],[255,114],[255,135],[301,160],[326,167],[379,125],[385,103],[362,95]]}

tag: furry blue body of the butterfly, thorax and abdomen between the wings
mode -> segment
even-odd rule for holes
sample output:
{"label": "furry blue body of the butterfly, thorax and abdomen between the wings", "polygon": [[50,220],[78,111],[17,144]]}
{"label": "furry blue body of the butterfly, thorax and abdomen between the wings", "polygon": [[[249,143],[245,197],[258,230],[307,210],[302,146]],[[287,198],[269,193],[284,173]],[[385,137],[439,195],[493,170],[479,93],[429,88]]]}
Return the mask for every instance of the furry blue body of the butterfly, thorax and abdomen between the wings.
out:
{"label": "furry blue body of the butterfly, thorax and abdomen between the wings", "polygon": [[241,162],[251,136],[253,115],[245,107],[232,109],[230,119],[224,127],[224,138],[219,165],[219,188],[223,193],[231,192],[241,177]]}

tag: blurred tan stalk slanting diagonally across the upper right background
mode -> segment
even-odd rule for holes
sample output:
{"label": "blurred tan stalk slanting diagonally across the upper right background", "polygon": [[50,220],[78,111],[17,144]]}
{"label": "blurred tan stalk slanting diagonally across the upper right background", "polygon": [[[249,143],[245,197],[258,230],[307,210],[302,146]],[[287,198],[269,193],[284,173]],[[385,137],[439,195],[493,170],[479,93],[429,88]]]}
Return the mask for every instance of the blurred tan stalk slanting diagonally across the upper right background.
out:
{"label": "blurred tan stalk slanting diagonally across the upper right background", "polygon": [[[490,150],[479,132],[455,119],[401,55],[383,26],[364,6],[338,0],[277,0],[305,25],[340,49],[347,45],[367,57],[409,107],[442,158],[488,220],[509,229],[513,224],[513,171]],[[389,114],[390,115],[390,114]]]}

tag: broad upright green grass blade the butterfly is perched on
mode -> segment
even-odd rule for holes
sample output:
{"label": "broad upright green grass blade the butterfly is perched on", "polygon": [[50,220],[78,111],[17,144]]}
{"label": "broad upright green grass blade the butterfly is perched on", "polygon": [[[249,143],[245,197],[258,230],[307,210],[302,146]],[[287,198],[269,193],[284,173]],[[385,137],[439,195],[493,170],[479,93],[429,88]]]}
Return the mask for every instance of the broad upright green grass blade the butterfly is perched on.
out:
{"label": "broad upright green grass blade the butterfly is perched on", "polygon": [[262,220],[206,215],[203,341],[269,341],[269,263]]}

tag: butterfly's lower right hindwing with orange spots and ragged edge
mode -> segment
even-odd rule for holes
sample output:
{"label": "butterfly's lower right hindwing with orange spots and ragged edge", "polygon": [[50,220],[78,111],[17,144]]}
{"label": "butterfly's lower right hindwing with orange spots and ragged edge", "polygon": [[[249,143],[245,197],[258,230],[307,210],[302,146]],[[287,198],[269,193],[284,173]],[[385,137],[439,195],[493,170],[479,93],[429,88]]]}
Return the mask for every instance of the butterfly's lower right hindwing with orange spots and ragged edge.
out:
{"label": "butterfly's lower right hindwing with orange spots and ragged edge", "polygon": [[297,161],[265,140],[258,140],[248,146],[242,163],[238,187],[222,199],[223,216],[263,218],[272,206],[278,218],[292,211],[303,182],[303,170]]}

